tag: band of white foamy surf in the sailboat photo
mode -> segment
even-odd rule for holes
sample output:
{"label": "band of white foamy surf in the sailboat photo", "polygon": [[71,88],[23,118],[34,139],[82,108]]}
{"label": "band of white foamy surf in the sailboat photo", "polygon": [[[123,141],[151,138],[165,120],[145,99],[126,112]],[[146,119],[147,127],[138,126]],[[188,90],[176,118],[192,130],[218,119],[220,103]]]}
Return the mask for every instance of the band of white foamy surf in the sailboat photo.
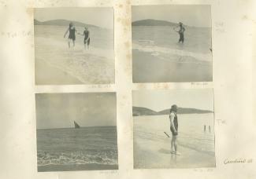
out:
{"label": "band of white foamy surf in the sailboat photo", "polygon": [[104,164],[117,165],[117,152],[97,152],[88,154],[85,152],[38,152],[38,166],[46,165],[79,165],[79,164]]}

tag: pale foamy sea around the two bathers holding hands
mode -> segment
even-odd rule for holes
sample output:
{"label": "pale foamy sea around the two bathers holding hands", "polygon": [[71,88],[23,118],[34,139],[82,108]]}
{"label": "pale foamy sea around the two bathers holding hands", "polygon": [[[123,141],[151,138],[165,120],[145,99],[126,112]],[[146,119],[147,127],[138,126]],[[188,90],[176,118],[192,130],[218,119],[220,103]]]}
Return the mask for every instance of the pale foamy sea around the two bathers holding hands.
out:
{"label": "pale foamy sea around the two bathers holding hands", "polygon": [[[84,49],[83,36],[76,34],[76,46],[69,49],[69,32],[64,38],[65,26],[35,25],[35,82],[46,84],[37,78],[37,72],[46,73],[48,66],[63,71],[83,84],[114,82],[113,29],[90,27],[90,49]],[[83,34],[83,27],[76,31]],[[44,64],[41,65],[40,64]],[[58,77],[52,74],[52,78]],[[41,80],[41,81],[40,81]]]}

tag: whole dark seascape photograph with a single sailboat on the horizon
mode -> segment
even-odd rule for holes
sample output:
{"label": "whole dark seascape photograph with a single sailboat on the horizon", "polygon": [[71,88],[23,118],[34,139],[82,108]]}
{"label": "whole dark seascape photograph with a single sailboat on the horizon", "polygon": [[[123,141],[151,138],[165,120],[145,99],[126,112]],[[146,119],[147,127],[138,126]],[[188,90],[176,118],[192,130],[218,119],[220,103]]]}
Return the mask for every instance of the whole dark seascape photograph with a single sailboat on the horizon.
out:
{"label": "whole dark seascape photograph with a single sailboat on the horizon", "polygon": [[117,170],[116,93],[36,93],[38,172]]}

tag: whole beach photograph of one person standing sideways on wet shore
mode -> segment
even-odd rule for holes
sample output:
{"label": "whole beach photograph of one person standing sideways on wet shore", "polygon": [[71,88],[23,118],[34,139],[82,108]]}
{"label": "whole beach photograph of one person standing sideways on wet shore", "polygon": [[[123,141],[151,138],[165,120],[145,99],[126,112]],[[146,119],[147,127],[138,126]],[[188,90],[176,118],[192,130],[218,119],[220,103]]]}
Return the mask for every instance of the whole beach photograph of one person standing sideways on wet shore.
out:
{"label": "whole beach photograph of one person standing sideways on wet shore", "polygon": [[134,169],[215,167],[213,89],[132,91]]}

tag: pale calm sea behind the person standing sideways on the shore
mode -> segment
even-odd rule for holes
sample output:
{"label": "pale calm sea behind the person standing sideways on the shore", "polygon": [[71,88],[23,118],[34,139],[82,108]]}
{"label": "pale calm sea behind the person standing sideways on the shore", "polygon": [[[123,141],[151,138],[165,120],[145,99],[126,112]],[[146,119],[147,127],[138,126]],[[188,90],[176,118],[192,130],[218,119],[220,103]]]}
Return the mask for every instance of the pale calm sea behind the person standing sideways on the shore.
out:
{"label": "pale calm sea behind the person standing sideways on the shore", "polygon": [[[133,118],[135,140],[166,143],[168,137],[164,132],[172,137],[169,130],[169,115],[148,115]],[[200,153],[215,155],[213,113],[178,115],[178,122],[178,145]],[[206,131],[204,126],[206,126]]]}

